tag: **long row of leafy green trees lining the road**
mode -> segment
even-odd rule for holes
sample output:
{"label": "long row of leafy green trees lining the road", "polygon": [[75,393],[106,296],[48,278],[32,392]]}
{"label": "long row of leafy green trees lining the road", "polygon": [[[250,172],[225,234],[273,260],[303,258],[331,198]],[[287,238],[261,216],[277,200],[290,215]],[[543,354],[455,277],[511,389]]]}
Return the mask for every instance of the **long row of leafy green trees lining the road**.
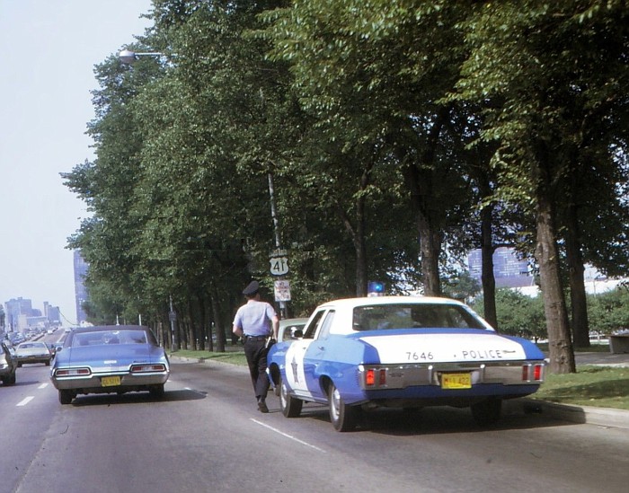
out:
{"label": "long row of leafy green trees lining the road", "polygon": [[278,247],[294,315],[369,280],[450,292],[452,266],[483,247],[496,323],[491,255],[510,244],[539,271],[552,370],[574,371],[583,264],[629,263],[628,14],[621,0],[154,0],[126,48],[163,56],[96,67],[96,158],[64,175],[93,213],[69,242],[93,317],[164,328],[173,300],[182,344],[215,334],[222,350],[242,286],[272,292]]}

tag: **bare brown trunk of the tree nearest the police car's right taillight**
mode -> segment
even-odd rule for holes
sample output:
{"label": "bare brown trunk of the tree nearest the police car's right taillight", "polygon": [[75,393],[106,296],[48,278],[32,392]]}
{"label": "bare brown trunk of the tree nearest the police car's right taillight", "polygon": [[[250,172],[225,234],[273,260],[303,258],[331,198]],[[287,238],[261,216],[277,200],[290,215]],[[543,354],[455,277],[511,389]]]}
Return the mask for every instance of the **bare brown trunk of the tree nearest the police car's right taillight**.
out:
{"label": "bare brown trunk of the tree nearest the police car's right taillight", "polygon": [[534,174],[537,175],[536,260],[544,295],[550,371],[554,374],[567,374],[576,372],[576,365],[559,269],[551,180],[545,165],[544,160],[534,164]]}

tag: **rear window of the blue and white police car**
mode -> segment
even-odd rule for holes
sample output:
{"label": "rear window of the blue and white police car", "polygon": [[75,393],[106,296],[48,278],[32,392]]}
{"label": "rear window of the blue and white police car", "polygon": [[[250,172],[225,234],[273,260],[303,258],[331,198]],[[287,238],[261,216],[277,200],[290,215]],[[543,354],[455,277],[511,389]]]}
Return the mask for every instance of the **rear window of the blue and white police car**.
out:
{"label": "rear window of the blue and white police car", "polygon": [[374,304],[354,308],[354,330],[413,328],[486,329],[457,304]]}

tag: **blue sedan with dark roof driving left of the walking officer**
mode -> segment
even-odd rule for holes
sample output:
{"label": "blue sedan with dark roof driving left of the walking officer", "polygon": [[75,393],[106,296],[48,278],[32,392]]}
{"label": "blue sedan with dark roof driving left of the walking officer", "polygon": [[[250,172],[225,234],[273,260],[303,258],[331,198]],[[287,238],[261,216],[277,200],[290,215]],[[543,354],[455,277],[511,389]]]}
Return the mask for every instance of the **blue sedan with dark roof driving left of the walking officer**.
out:
{"label": "blue sedan with dark roof driving left of the walking officer", "polygon": [[105,325],[69,332],[50,370],[61,404],[79,394],[148,391],[164,396],[170,362],[153,331],[140,325]]}

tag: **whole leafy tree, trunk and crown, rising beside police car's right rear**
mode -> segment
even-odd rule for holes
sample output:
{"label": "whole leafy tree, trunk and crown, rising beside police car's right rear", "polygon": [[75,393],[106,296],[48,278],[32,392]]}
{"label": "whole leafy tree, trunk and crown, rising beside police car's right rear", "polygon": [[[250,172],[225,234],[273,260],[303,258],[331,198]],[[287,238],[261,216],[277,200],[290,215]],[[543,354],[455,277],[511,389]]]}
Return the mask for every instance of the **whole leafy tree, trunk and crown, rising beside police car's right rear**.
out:
{"label": "whole leafy tree, trunk and crown, rising beside police car's right rear", "polygon": [[[535,207],[536,260],[545,295],[551,369],[556,373],[575,371],[557,244],[561,228],[557,198],[569,171],[583,172],[591,165],[577,158],[580,169],[570,167],[575,162],[571,157],[583,153],[573,144],[579,134],[567,109],[572,103],[590,110],[602,103],[598,118],[616,113],[618,104],[606,104],[606,81],[594,75],[606,72],[609,60],[586,59],[582,50],[598,33],[605,37],[610,27],[622,39],[625,15],[622,2],[605,7],[588,2],[551,6],[533,0],[478,4],[467,24],[471,56],[458,88],[473,101],[500,102],[485,112],[484,137],[501,143],[496,164],[503,180],[509,178],[503,187],[528,197]],[[589,65],[581,69],[585,61]],[[620,58],[616,62],[616,75],[624,77],[618,69],[623,62]]]}

